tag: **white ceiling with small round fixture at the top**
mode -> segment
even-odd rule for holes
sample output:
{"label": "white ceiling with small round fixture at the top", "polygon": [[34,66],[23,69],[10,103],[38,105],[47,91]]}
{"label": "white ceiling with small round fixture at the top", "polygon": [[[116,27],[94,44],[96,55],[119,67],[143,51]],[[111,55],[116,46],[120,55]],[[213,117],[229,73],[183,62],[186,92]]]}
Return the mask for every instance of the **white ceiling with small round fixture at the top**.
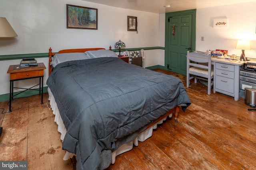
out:
{"label": "white ceiling with small round fixture at the top", "polygon": [[[118,8],[163,14],[198,8],[254,2],[256,0],[84,0]],[[170,5],[170,8],[164,8]]]}

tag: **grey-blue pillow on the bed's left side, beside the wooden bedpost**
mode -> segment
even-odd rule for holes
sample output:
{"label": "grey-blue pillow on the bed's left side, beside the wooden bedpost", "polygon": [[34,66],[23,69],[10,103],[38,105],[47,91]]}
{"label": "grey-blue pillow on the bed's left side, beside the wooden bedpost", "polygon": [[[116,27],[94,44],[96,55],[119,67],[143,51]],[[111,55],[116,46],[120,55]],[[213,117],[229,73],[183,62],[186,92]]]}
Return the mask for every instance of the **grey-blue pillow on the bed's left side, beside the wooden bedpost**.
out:
{"label": "grey-blue pillow on the bed's left side, beside the wooden bedpost", "polygon": [[63,63],[65,61],[85,60],[85,59],[89,59],[89,58],[84,53],[60,53],[60,54],[54,55],[50,65],[55,67],[57,64]]}

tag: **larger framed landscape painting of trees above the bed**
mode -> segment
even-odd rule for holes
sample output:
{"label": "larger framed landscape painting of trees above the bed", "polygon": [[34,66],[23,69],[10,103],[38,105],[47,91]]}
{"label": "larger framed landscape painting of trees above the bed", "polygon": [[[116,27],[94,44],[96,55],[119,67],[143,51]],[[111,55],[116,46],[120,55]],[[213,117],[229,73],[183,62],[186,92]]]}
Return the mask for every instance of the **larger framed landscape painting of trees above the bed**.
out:
{"label": "larger framed landscape painting of trees above the bed", "polygon": [[98,9],[66,5],[67,28],[98,29]]}

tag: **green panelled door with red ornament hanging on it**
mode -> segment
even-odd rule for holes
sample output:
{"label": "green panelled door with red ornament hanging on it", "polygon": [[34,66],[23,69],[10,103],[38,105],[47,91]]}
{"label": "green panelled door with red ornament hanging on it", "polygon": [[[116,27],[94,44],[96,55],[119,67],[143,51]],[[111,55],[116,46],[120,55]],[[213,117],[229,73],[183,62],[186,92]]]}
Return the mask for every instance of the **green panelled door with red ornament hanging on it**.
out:
{"label": "green panelled door with red ornament hanging on it", "polygon": [[166,70],[186,75],[186,54],[192,47],[193,14],[166,16]]}

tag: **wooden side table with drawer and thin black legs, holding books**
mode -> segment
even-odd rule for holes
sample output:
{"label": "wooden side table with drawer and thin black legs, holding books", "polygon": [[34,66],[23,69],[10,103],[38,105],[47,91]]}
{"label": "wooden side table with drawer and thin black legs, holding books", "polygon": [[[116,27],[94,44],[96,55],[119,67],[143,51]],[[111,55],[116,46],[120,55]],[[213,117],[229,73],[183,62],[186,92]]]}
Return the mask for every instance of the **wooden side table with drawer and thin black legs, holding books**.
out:
{"label": "wooden side table with drawer and thin black legs, holding books", "polygon": [[[33,87],[39,85],[39,94],[41,94],[41,104],[43,104],[43,80],[44,80],[44,69],[46,67],[44,66],[44,63],[37,63],[37,66],[24,66],[20,67],[20,64],[17,65],[10,65],[7,73],[10,73],[10,103],[9,103],[9,111],[11,112],[11,105],[12,105],[12,100],[13,97],[25,92],[27,90],[37,90],[37,89],[32,89]],[[39,78],[39,84],[36,84],[35,86],[31,88],[19,88],[19,89],[25,89],[25,91],[22,91],[16,95],[13,95],[13,88],[18,88],[13,86],[14,81],[18,80],[26,80],[30,78]]]}

